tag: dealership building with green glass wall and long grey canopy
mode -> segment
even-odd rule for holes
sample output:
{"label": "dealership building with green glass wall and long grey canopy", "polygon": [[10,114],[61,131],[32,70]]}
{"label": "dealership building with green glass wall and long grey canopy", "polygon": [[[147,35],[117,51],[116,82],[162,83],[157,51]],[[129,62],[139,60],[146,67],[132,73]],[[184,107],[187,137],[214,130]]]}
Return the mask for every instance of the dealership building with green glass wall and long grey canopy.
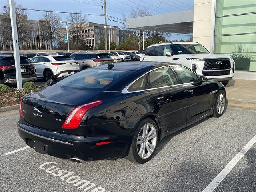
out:
{"label": "dealership building with green glass wall and long grey canopy", "polygon": [[256,0],[194,0],[194,9],[131,18],[126,27],[193,34],[211,53],[232,55],[235,78],[256,79]]}

